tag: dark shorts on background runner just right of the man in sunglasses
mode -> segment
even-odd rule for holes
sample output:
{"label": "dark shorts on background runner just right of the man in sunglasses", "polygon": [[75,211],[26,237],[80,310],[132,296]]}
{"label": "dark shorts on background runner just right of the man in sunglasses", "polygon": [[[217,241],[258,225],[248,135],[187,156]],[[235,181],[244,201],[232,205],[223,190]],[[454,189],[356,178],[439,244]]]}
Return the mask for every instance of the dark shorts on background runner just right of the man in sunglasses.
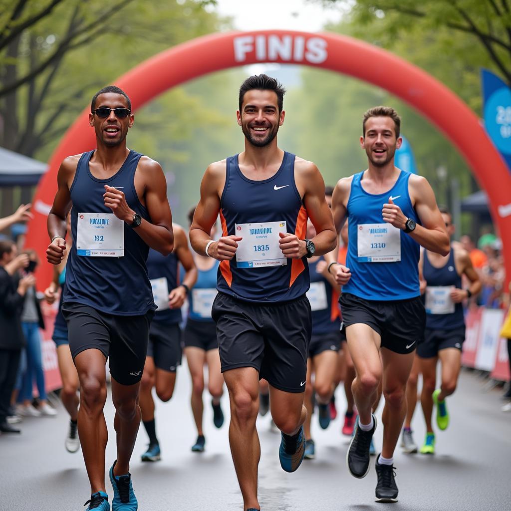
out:
{"label": "dark shorts on background runner just right of the man in sunglasses", "polygon": [[147,356],[158,369],[175,373],[181,365],[181,329],[177,323],[151,323]]}

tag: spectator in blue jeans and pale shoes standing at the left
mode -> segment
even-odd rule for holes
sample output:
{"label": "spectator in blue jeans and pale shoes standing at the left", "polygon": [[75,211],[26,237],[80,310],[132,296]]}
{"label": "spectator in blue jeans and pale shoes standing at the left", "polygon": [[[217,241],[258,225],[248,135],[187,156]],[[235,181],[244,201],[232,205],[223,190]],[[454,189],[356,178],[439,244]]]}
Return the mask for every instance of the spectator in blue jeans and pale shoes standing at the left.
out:
{"label": "spectator in blue jeans and pale shoes standing at the left", "polygon": [[[30,259],[26,271],[32,273],[39,262],[37,254],[34,250],[26,250],[26,253]],[[30,286],[25,295],[25,303],[21,314],[21,328],[27,341],[27,370],[21,385],[20,399],[22,400],[22,406],[19,407],[18,413],[25,416],[40,416],[41,414],[54,416],[57,414],[57,411],[48,404],[45,389],[41,335],[39,333],[39,328],[44,329],[44,320],[39,306],[39,299],[36,296],[35,286]],[[32,406],[34,379],[37,391],[39,392],[38,409]]]}

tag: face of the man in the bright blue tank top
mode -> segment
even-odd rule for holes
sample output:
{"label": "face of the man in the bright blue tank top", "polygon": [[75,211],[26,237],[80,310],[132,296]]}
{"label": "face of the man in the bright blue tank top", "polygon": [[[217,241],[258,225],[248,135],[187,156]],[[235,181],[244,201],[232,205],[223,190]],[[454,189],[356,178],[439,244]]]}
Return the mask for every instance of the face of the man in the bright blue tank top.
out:
{"label": "face of the man in the bright blue tank top", "polygon": [[365,136],[360,146],[375,167],[384,167],[401,147],[401,137],[396,138],[396,125],[390,117],[370,117],[365,122]]}

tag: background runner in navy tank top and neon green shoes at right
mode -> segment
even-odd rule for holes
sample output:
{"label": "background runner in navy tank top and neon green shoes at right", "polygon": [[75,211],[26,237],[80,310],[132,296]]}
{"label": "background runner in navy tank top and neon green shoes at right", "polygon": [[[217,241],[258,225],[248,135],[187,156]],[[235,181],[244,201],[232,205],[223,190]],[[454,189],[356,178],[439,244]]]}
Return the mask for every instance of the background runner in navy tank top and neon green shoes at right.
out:
{"label": "background runner in navy tank top and neon green shoes at right", "polygon": [[[454,224],[448,210],[442,209],[449,236],[454,234]],[[420,267],[426,281],[426,330],[419,341],[419,356],[423,387],[421,404],[426,421],[426,439],[421,453],[434,454],[435,434],[431,424],[433,403],[436,407],[436,425],[445,430],[449,426],[449,412],[445,399],[456,390],[461,367],[461,349],[465,340],[465,320],[462,301],[477,295],[481,281],[470,254],[458,244],[444,256],[424,250]],[[470,282],[467,289],[461,287],[461,276]],[[442,364],[442,384],[436,386],[436,363]]]}

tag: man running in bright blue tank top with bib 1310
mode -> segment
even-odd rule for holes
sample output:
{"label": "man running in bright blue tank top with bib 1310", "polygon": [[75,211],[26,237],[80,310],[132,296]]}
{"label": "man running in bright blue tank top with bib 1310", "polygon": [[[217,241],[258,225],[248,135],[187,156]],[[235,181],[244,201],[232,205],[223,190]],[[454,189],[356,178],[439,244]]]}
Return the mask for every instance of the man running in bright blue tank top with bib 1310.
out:
{"label": "man running in bright blue tank top with bib 1310", "polygon": [[406,412],[413,351],[426,320],[419,292],[419,245],[449,253],[449,236],[429,183],[394,167],[400,124],[392,108],[365,112],[360,145],[368,168],[341,179],[332,197],[337,229],[346,217],[349,222],[346,265],[332,254],[329,269],[342,285],[342,320],[357,373],[353,394],[359,420],[346,462],[353,476],[367,475],[376,429],[371,407],[383,377],[384,440],[376,460],[379,502],[397,501],[392,457]]}

